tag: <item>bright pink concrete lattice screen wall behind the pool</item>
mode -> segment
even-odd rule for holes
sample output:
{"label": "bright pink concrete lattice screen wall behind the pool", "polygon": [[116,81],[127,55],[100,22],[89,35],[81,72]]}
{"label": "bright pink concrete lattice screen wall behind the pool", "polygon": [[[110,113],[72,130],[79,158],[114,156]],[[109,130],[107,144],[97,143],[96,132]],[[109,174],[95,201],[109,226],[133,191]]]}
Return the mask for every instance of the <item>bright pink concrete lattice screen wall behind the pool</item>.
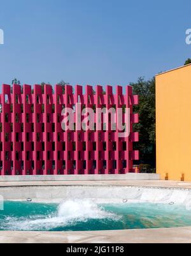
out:
{"label": "bright pink concrete lattice screen wall behind the pool", "polygon": [[[10,86],[3,84],[0,95],[0,175],[58,175],[58,174],[125,174],[132,172],[133,160],[139,152],[133,151],[138,133],[132,132],[132,124],[138,122],[132,106],[138,104],[138,96],[132,95],[132,87],[117,86],[113,94],[111,86],[97,86],[95,94],[86,86],[52,87],[45,85],[44,93],[39,85]],[[118,132],[66,131],[61,128],[62,108],[73,107],[77,102],[86,107],[110,108],[126,105],[131,109],[131,134],[118,138]],[[104,148],[103,147],[103,143]]]}

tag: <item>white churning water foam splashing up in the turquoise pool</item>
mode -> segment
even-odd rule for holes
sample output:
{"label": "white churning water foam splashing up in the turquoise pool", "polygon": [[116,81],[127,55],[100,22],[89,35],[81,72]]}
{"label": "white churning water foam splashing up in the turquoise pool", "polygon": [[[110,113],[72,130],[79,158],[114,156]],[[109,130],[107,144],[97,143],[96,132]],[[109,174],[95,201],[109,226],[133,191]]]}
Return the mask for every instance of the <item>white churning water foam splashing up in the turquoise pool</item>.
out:
{"label": "white churning water foam splashing up in the turquoise pool", "polygon": [[31,216],[30,218],[6,218],[6,230],[51,230],[58,227],[75,225],[88,220],[111,219],[118,220],[119,216],[104,211],[90,200],[67,200],[59,205],[55,215]]}

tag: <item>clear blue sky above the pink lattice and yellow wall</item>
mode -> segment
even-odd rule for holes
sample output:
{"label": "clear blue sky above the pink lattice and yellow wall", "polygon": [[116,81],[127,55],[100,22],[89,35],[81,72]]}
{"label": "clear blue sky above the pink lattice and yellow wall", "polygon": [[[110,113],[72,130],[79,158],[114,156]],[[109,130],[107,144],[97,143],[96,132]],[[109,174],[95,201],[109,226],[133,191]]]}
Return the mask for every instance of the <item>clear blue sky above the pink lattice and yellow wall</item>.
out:
{"label": "clear blue sky above the pink lattice and yellow wall", "polygon": [[0,84],[121,84],[191,57],[191,1],[1,0]]}

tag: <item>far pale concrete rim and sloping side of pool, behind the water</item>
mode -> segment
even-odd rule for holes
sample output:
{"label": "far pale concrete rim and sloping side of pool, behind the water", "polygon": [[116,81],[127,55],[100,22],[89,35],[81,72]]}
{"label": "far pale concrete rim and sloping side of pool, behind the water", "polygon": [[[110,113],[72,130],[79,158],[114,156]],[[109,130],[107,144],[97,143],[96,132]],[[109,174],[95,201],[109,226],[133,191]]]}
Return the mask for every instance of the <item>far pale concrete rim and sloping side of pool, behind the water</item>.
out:
{"label": "far pale concrete rim and sloping side of pool, behind the water", "polygon": [[46,181],[0,182],[4,200],[55,202],[89,199],[94,202],[152,202],[191,205],[191,183],[166,181]]}

